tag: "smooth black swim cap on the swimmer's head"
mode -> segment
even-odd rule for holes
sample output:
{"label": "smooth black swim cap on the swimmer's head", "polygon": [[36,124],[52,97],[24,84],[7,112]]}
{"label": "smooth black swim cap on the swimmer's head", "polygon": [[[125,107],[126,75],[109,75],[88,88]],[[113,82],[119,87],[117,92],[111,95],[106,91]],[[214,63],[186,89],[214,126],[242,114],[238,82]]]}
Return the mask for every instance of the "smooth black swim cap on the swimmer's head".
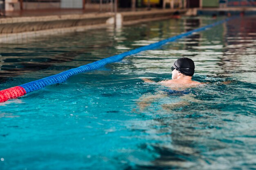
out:
{"label": "smooth black swim cap on the swimmer's head", "polygon": [[195,72],[194,61],[186,57],[177,59],[173,63],[173,67],[186,76],[193,76]]}

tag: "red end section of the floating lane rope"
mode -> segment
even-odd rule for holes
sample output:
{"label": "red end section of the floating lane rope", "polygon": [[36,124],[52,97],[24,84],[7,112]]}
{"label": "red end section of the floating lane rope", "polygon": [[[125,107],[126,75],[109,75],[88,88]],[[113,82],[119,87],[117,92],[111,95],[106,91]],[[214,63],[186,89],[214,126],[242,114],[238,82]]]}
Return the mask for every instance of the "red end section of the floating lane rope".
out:
{"label": "red end section of the floating lane rope", "polygon": [[13,98],[18,98],[18,97],[24,96],[25,94],[26,94],[25,89],[20,86],[4,89],[0,91],[0,102],[5,102]]}

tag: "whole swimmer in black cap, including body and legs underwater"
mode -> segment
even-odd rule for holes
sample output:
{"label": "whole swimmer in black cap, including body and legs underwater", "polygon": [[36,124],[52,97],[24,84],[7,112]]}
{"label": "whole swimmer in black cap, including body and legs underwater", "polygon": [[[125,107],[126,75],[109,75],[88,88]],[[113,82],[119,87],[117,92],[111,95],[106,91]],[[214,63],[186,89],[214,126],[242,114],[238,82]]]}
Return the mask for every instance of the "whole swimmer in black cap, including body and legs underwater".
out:
{"label": "whole swimmer in black cap, including body and legs underwater", "polygon": [[[192,102],[200,102],[200,100],[195,99],[194,95],[186,90],[187,88],[198,87],[199,85],[207,84],[200,83],[198,81],[192,81],[192,76],[195,72],[194,61],[192,59],[182,57],[173,63],[171,70],[172,80],[155,82],[147,78],[142,79],[145,83],[158,83],[159,85],[170,87],[170,90],[163,89],[158,91],[156,94],[148,93],[141,96],[138,101],[140,111],[143,111],[146,107],[149,107],[155,100],[168,96],[180,96],[181,101],[163,104],[162,108],[165,110],[172,110],[178,107],[189,106]],[[227,85],[231,83],[231,81],[222,83]]]}

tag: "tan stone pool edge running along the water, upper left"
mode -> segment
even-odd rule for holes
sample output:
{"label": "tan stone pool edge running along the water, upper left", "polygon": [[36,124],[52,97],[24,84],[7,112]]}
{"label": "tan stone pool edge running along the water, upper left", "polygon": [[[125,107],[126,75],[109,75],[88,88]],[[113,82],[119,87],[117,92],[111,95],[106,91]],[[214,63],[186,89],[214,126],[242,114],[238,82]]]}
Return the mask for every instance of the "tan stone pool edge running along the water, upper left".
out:
{"label": "tan stone pool edge running along the water, upper left", "polygon": [[[177,11],[152,9],[150,11],[120,11],[117,25],[137,24],[153,20],[168,19]],[[181,14],[186,9],[180,9]],[[0,17],[0,43],[34,36],[66,32],[85,31],[115,25],[115,13],[83,10],[38,10],[9,12]]]}

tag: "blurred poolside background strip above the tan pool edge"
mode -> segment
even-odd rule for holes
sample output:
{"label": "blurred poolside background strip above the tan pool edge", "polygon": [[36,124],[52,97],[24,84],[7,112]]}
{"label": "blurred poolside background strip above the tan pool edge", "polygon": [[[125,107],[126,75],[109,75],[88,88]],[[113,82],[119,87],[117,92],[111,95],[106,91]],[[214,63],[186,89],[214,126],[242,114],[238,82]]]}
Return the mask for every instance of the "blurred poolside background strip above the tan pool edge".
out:
{"label": "blurred poolside background strip above the tan pool edge", "polygon": [[[2,15],[27,10],[65,10],[81,12],[111,12],[114,4],[121,11],[148,8],[225,8],[255,7],[256,0],[0,0]],[[12,13],[14,14],[14,13]]]}

